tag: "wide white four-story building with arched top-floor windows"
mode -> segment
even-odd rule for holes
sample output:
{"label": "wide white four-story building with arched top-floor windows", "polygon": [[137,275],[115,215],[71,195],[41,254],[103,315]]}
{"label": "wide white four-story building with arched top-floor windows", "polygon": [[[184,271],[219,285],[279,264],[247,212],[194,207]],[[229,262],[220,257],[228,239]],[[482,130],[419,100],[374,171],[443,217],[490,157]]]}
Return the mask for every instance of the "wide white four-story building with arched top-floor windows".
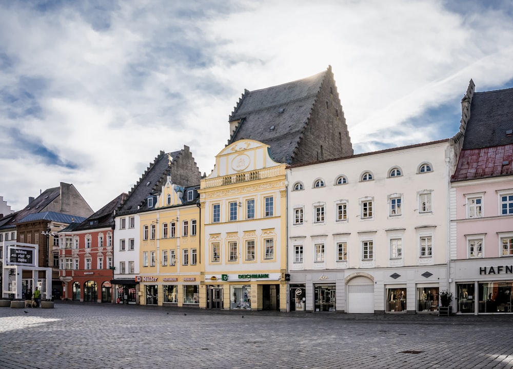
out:
{"label": "wide white four-story building with arched top-floor windows", "polygon": [[455,139],[287,169],[290,310],[435,312]]}

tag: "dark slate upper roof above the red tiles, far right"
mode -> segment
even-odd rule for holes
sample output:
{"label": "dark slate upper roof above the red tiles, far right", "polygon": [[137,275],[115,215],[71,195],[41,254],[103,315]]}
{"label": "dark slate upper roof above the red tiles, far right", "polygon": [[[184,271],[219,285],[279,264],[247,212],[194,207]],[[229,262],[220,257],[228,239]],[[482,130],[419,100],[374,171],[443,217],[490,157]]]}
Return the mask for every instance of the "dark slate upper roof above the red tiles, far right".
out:
{"label": "dark slate upper roof above the red tiles, far right", "polygon": [[513,144],[513,88],[475,92],[463,149],[479,149]]}

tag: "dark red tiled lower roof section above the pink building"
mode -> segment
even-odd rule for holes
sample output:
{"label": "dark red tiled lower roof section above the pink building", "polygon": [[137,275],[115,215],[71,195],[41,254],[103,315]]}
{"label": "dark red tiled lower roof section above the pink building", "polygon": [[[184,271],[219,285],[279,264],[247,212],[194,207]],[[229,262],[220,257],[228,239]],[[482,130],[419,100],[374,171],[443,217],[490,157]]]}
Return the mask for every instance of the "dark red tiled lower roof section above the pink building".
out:
{"label": "dark red tiled lower roof section above the pink building", "polygon": [[451,177],[451,181],[464,181],[511,174],[513,174],[513,144],[508,144],[462,150],[458,166],[455,174]]}

